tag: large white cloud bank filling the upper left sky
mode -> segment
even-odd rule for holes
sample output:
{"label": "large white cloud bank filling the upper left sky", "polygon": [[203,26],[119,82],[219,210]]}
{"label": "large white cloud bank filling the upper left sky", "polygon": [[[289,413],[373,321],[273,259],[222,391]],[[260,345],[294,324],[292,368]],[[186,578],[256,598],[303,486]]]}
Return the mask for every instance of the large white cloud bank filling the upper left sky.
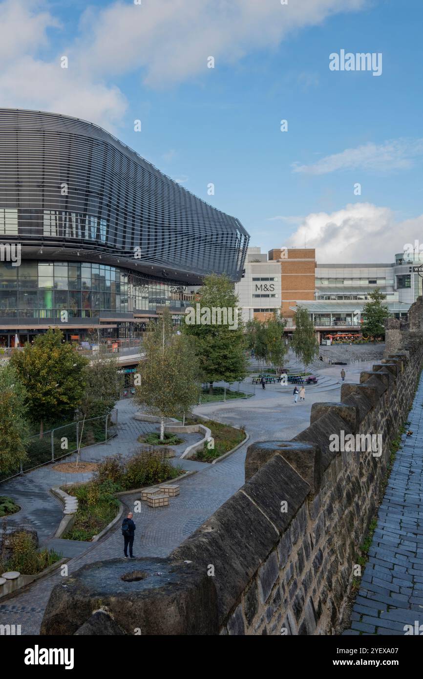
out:
{"label": "large white cloud bank filling the upper left sky", "polygon": [[[114,130],[127,108],[112,79],[133,74],[134,87],[168,86],[210,75],[254,50],[272,49],[289,33],[320,24],[331,14],[361,10],[369,0],[143,0],[90,7],[78,33],[67,37],[42,4],[0,3],[0,101],[3,106],[70,113]],[[54,58],[50,54],[63,39]],[[69,69],[60,69],[60,56]]]}

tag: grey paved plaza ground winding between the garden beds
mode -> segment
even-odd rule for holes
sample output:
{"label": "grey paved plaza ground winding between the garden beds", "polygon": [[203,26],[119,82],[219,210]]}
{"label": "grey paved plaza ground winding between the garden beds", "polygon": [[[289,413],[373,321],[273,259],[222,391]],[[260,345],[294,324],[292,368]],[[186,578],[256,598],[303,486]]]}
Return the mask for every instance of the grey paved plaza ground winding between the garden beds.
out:
{"label": "grey paved plaza ground winding between the garden beds", "polygon": [[[358,382],[359,371],[366,367],[366,364],[359,369],[352,367],[350,372],[347,368],[347,380]],[[337,368],[328,369],[327,374],[337,377],[339,375]],[[331,400],[337,401],[339,399],[339,387],[340,381],[334,384],[333,391],[330,392]],[[221,504],[244,483],[244,460],[246,447],[250,443],[265,439],[289,440],[306,428],[310,424],[312,403],[327,400],[328,392],[320,393],[318,387],[312,387],[306,388],[306,394],[306,403],[294,404],[291,389],[272,390],[272,392],[270,390],[257,390],[253,399],[236,399],[230,403],[202,405],[196,409],[196,411],[206,414],[210,418],[215,417],[221,422],[233,423],[236,426],[245,424],[246,432],[250,435],[249,441],[218,464],[212,465],[183,460],[183,469],[193,469],[197,473],[181,481],[181,494],[177,498],[172,498],[169,507],[150,509],[146,507],[145,503],[142,504],[141,513],[135,517],[137,530],[134,541],[134,555],[137,557],[167,556],[219,509]],[[88,452],[88,449],[84,451],[84,460],[95,460],[117,452],[127,454],[136,447],[136,438],[141,431],[154,430],[154,426],[151,424],[134,420],[135,407],[132,401],[120,401],[117,403],[117,407],[119,409],[118,436],[111,439],[107,444],[90,447],[90,452]],[[184,447],[185,445],[186,443]],[[175,460],[174,463],[178,464],[179,462]],[[41,513],[48,488],[51,485],[69,481],[69,475],[62,475],[60,481],[55,479],[51,483],[52,477],[49,477],[49,473],[51,472],[48,472],[48,470],[39,471],[43,481],[41,483],[40,477],[38,477],[38,483],[41,483],[42,488],[38,488],[40,512],[39,515],[35,512],[35,515],[40,526],[43,522]],[[32,496],[31,475],[33,474],[35,473],[31,472],[25,477],[30,479],[25,482],[28,501],[31,500]],[[73,475],[72,480],[76,480],[75,475]],[[11,482],[7,482],[7,484],[9,483]],[[2,494],[6,494],[5,486],[6,484],[0,486]],[[16,492],[13,492],[14,488],[16,490],[16,486],[8,485],[8,494],[16,496]],[[120,499],[127,507],[131,507],[134,494],[128,494]],[[56,502],[56,500],[53,501]],[[25,504],[26,499],[22,502]],[[61,512],[58,514],[61,517]],[[58,521],[56,521],[54,530],[57,525]],[[52,532],[50,532],[51,536]],[[44,540],[44,542],[48,545],[51,544],[50,540]],[[98,543],[86,543],[86,545],[86,549],[84,549],[85,545],[82,545],[82,549],[84,549],[82,553],[68,562],[69,573],[100,559],[111,559],[123,555],[122,534],[119,524],[103,540],[99,540]],[[60,574],[55,572],[52,576],[43,578],[35,585],[20,591],[3,604],[0,600],[0,624],[21,625],[22,635],[39,634],[45,605],[52,588],[58,583],[60,577]]]}

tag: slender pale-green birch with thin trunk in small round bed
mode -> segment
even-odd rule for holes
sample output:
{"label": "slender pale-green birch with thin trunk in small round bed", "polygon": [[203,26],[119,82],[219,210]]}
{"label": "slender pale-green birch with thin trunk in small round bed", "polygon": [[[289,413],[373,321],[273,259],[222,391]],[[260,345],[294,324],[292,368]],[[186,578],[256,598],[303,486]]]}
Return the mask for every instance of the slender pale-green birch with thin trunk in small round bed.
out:
{"label": "slender pale-green birch with thin trunk in small round bed", "polygon": [[[165,418],[185,413],[198,400],[200,369],[191,337],[177,334],[172,329],[168,309],[155,327],[144,335],[145,359],[138,367],[140,386],[135,400],[160,416],[160,439],[164,439]],[[185,420],[185,417],[184,417]]]}

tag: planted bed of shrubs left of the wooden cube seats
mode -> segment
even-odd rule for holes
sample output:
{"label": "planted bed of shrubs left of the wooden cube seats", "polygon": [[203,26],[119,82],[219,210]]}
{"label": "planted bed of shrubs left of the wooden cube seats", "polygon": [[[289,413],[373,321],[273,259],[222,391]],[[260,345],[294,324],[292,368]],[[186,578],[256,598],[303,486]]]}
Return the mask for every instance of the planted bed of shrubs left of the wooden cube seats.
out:
{"label": "planted bed of shrubs left of the wooden cube seats", "polygon": [[78,500],[73,526],[63,535],[68,540],[92,540],[115,519],[119,500],[115,493],[155,483],[164,483],[183,473],[166,458],[141,449],[131,458],[115,455],[98,464],[96,475],[89,483],[66,488]]}

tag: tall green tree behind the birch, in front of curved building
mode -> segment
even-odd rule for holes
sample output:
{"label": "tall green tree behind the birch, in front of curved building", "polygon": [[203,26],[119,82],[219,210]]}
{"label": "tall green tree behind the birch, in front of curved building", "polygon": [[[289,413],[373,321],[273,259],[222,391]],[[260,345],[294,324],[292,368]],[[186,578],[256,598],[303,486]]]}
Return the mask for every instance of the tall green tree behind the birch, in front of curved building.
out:
{"label": "tall green tree behind the birch, in front of curved building", "polygon": [[[213,382],[235,382],[246,375],[246,354],[244,327],[242,314],[238,307],[238,296],[234,285],[227,276],[212,274],[204,279],[204,285],[198,295],[200,317],[204,323],[191,323],[189,315],[185,316],[183,329],[189,337],[195,339],[195,351],[202,369],[204,382],[209,382],[210,393],[213,392]],[[233,323],[211,323],[213,309],[223,310],[229,320],[232,315]],[[195,306],[197,310],[197,305]],[[219,311],[215,312],[219,320]],[[221,318],[224,318],[224,316]]]}

